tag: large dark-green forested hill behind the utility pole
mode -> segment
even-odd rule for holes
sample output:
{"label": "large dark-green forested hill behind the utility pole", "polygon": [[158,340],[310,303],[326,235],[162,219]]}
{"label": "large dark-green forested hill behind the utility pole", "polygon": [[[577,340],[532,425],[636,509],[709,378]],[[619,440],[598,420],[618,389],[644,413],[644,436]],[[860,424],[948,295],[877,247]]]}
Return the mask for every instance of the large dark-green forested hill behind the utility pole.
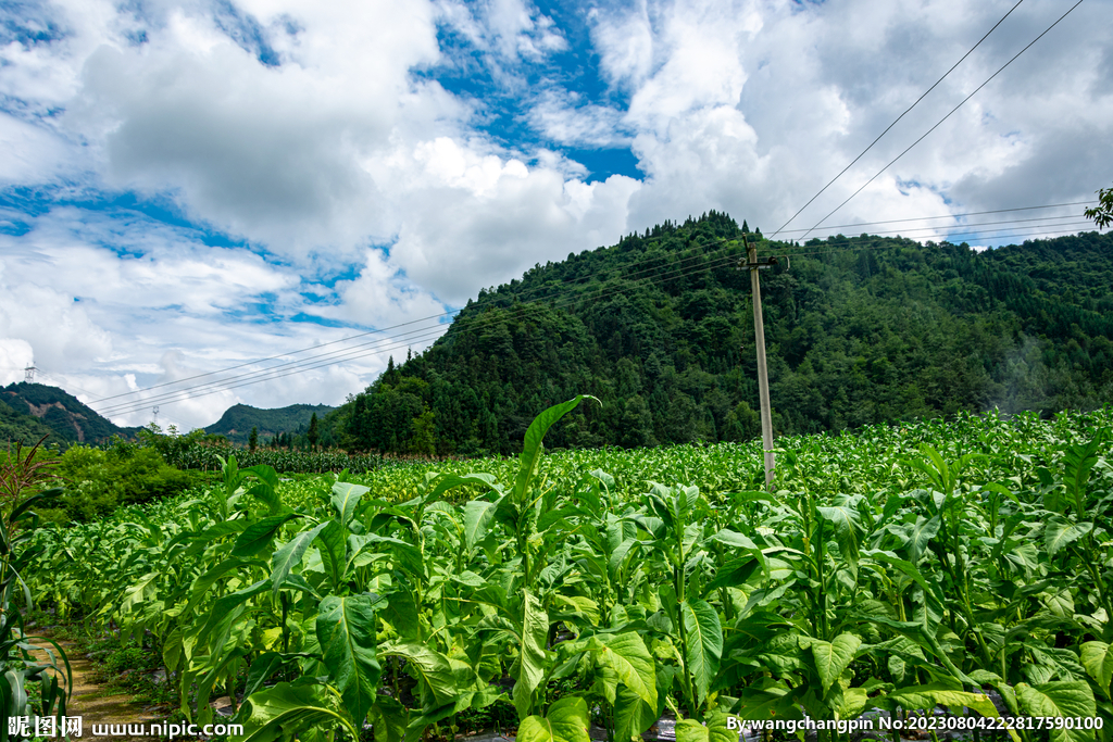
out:
{"label": "large dark-green forested hill behind the utility pole", "polygon": [[[481,291],[329,422],[356,448],[508,454],[536,410],[587,393],[602,406],[550,445],[758,435],[740,234],[712,211],[536,266]],[[1113,402],[1110,235],[983,253],[868,235],[761,241],[769,255],[790,256],[761,271],[779,434]]]}

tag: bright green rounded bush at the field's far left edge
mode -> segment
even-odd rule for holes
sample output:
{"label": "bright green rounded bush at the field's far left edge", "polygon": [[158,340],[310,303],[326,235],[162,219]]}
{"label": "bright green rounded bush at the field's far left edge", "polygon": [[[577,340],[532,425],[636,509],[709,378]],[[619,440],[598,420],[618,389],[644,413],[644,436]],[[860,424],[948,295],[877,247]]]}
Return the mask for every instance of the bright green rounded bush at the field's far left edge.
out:
{"label": "bright green rounded bush at the field's far left edge", "polygon": [[193,477],[169,464],[154,448],[73,446],[59,459],[65,493],[41,515],[51,521],[90,521],[120,505],[147,503],[178,494]]}

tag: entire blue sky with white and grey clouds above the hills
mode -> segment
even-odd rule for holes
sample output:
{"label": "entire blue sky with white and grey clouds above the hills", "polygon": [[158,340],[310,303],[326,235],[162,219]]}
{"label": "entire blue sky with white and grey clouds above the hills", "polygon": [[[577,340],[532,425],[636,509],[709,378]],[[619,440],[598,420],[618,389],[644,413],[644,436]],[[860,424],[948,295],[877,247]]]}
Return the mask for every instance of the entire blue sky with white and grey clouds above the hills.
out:
{"label": "entire blue sky with white and grey clouds above the hills", "polygon": [[[781,236],[1074,1],[1022,2]],[[185,429],[338,404],[535,263],[708,209],[769,235],[1014,4],[4,2],[0,383],[33,364]],[[1083,206],[963,215],[1113,184],[1110,18],[1082,2],[810,236],[1083,229]]]}

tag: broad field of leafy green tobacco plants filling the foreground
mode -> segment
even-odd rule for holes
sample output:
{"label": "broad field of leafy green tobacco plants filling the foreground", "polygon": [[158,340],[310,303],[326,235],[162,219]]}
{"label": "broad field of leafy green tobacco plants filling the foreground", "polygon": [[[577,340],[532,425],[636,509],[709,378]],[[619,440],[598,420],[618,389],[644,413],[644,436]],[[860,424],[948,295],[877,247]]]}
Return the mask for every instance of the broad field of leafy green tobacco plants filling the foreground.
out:
{"label": "broad field of leafy green tobacco plants filling the foreground", "polygon": [[519,458],[229,459],[204,496],[38,528],[22,576],[159,646],[190,719],[230,695],[254,742],[430,739],[495,703],[522,742],[666,712],[727,742],[728,716],[997,716],[989,690],[1063,720],[997,739],[1111,739],[1113,412],[784,437],[767,491],[759,442],[545,453],[579,404]]}

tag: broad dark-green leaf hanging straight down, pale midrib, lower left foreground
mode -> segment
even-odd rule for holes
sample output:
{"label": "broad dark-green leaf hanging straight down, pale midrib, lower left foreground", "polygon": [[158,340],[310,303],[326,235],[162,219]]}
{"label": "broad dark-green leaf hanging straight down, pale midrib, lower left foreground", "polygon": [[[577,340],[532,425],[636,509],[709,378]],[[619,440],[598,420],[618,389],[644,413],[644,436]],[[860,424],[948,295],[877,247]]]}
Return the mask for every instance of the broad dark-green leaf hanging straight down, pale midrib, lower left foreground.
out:
{"label": "broad dark-green leaf hanging straight down, pale midrib, lower left foreground", "polygon": [[362,723],[375,701],[382,672],[375,657],[377,596],[329,595],[317,614],[317,641],[333,684],[354,720]]}

